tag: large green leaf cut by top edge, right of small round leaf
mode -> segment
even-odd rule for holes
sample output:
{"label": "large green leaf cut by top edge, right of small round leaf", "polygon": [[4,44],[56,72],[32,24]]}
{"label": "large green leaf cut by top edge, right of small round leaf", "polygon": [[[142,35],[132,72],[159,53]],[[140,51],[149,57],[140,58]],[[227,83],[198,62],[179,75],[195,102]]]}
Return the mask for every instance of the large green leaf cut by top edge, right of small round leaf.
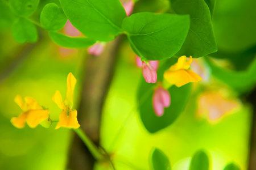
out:
{"label": "large green leaf cut by top edge, right of small round leaf", "polygon": [[68,19],[80,32],[98,41],[110,41],[122,32],[125,9],[119,0],[60,0]]}

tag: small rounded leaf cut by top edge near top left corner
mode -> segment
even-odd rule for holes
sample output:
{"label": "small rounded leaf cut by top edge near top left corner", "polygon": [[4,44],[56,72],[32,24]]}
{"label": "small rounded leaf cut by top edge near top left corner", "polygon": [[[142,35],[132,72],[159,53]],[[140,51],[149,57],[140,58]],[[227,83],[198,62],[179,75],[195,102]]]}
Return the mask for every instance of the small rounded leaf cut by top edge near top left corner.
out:
{"label": "small rounded leaf cut by top edge near top left corner", "polygon": [[20,16],[31,15],[38,7],[39,0],[10,0],[11,10]]}

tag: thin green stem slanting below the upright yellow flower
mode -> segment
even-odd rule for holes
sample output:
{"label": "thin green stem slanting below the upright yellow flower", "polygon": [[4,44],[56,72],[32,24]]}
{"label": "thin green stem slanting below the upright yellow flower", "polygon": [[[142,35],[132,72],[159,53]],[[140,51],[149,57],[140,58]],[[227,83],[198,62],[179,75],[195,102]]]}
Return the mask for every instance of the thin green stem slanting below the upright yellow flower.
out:
{"label": "thin green stem slanting below the upright yellow flower", "polygon": [[102,160],[105,156],[98,150],[98,147],[89,139],[89,137],[82,131],[81,128],[73,129],[77,135],[82,139],[82,142],[88,147],[88,150],[92,153],[96,160]]}

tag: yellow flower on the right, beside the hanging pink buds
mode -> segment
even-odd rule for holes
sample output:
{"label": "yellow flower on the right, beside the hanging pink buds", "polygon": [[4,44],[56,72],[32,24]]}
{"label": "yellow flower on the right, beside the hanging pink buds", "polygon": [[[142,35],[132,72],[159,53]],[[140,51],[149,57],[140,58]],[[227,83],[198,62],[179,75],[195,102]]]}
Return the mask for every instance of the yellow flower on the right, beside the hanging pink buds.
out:
{"label": "yellow flower on the right, beside the hanging pink buds", "polygon": [[189,82],[199,82],[202,78],[191,70],[188,70],[192,62],[192,57],[189,57],[186,62],[186,56],[181,56],[175,65],[171,66],[164,73],[164,79],[170,84],[180,87]]}

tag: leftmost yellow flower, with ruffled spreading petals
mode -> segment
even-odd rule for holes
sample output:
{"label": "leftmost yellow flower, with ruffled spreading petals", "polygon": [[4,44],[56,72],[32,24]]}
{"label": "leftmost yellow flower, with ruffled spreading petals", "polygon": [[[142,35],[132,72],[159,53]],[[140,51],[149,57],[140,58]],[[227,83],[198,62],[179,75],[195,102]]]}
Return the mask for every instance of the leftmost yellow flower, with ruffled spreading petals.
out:
{"label": "leftmost yellow flower, with ruffled spreading petals", "polygon": [[25,103],[23,103],[22,97],[17,95],[14,101],[23,111],[20,113],[19,117],[11,118],[11,124],[16,128],[24,128],[25,122],[27,122],[30,128],[35,128],[49,117],[49,110],[44,110],[38,102],[31,97],[25,97]]}

